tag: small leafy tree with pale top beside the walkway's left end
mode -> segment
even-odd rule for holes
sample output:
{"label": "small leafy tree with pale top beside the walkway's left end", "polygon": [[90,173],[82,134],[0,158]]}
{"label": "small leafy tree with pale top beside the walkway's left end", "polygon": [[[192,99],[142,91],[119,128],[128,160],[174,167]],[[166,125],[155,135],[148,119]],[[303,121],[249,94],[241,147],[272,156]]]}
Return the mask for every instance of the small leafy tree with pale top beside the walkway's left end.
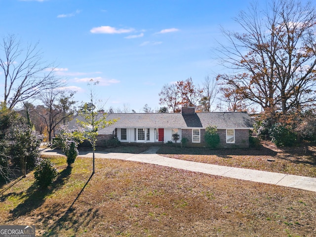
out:
{"label": "small leafy tree with pale top beside the walkway's left end", "polygon": [[78,145],[82,143],[83,140],[83,131],[79,129],[70,130],[67,125],[62,125],[52,146],[61,148],[67,157],[68,167],[70,167],[79,155]]}

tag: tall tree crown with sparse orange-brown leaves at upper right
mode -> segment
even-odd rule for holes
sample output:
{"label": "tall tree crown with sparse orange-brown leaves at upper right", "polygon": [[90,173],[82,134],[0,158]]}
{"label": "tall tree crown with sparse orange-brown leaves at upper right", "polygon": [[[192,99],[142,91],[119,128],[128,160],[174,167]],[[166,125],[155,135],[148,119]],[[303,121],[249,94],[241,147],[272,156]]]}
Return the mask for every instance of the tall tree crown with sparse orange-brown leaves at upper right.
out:
{"label": "tall tree crown with sparse orange-brown leaves at upper right", "polygon": [[265,111],[301,109],[316,101],[316,10],[311,2],[271,0],[252,4],[236,22],[244,32],[223,30],[230,45],[220,58],[234,75],[219,75],[244,100]]}

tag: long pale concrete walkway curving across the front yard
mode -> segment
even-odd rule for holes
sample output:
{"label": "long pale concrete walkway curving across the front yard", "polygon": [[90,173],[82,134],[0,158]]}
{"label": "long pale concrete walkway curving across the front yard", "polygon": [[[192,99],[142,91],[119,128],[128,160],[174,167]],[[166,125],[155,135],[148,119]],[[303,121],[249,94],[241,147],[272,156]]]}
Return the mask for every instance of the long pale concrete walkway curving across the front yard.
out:
{"label": "long pale concrete walkway curving across the front yard", "polygon": [[[166,158],[156,154],[158,149],[159,147],[151,147],[141,154],[97,152],[95,153],[95,157],[124,159],[150,164],[157,164],[162,166],[168,166],[212,175],[219,175],[223,177],[235,178],[240,180],[247,180],[265,184],[274,184],[316,192],[316,178],[253,169],[242,169],[215,164],[206,164],[182,159]],[[50,149],[43,150],[42,154],[62,155],[58,151],[52,151]],[[79,154],[79,157],[91,158],[92,152],[81,152]]]}

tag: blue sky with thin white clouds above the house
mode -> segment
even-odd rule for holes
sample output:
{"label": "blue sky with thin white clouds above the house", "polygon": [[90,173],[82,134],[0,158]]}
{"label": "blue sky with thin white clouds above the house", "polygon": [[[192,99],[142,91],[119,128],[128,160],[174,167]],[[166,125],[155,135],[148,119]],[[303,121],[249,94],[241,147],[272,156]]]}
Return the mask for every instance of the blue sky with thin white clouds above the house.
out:
{"label": "blue sky with thin white clouds above the house", "polygon": [[[165,83],[223,73],[213,59],[220,26],[250,0],[0,0],[0,35],[39,42],[56,75],[87,100],[87,81],[99,80],[106,108],[124,104],[141,112],[158,109]],[[265,1],[263,1],[265,2]],[[2,74],[3,75],[3,74]],[[1,78],[1,74],[0,74]]]}

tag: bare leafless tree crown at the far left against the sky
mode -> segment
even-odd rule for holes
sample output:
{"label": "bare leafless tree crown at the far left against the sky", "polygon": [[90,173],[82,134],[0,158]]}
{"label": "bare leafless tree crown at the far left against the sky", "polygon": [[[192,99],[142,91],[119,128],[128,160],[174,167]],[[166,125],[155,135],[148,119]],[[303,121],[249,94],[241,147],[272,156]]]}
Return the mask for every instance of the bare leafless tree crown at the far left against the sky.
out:
{"label": "bare leafless tree crown at the far left against the sky", "polygon": [[[16,36],[9,35],[0,44],[0,69],[4,74],[3,102],[8,108],[54,85],[53,67],[42,61],[38,43],[22,48]],[[0,51],[0,53],[1,53]]]}

